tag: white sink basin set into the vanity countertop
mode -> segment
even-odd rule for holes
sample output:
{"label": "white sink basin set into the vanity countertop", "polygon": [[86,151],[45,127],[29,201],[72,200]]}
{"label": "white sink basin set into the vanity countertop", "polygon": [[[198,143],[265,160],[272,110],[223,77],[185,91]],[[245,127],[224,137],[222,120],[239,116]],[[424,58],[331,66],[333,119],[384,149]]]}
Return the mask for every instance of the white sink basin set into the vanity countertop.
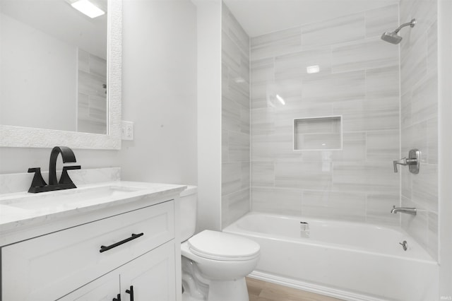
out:
{"label": "white sink basin set into the vanity countertop", "polygon": [[19,194],[0,197],[0,205],[32,211],[70,209],[90,206],[93,203],[104,203],[112,199],[126,199],[136,196],[141,187],[125,185],[108,185],[102,187],[83,187],[61,191],[49,191],[41,194]]}

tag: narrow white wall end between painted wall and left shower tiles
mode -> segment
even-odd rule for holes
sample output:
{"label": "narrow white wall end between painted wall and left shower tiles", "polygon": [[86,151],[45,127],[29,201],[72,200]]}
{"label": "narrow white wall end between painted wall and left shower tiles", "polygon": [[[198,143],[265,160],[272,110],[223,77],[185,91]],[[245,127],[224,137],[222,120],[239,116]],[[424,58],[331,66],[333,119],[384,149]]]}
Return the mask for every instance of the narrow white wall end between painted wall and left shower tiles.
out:
{"label": "narrow white wall end between painted wall and left shower tiles", "polygon": [[193,0],[198,20],[198,230],[221,227],[221,1]]}

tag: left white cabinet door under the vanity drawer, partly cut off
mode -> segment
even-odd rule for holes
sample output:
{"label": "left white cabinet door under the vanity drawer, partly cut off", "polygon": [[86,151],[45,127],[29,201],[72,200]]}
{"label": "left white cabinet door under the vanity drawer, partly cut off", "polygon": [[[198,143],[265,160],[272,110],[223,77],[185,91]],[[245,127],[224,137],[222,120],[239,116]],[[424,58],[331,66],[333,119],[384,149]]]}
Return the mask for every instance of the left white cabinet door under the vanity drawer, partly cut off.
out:
{"label": "left white cabinet door under the vanity drawer, partly cut off", "polygon": [[113,298],[117,297],[119,292],[119,273],[117,271],[112,271],[58,300],[112,301]]}

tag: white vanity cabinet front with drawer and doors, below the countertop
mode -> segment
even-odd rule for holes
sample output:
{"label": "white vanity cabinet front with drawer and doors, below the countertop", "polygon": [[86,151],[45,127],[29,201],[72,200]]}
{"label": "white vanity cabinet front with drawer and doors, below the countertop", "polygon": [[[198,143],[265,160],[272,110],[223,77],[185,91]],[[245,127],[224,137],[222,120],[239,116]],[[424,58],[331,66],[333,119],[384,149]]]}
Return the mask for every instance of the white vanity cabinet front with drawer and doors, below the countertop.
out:
{"label": "white vanity cabinet front with drawer and doors, below the countertop", "polygon": [[179,300],[175,206],[142,202],[1,247],[1,300]]}

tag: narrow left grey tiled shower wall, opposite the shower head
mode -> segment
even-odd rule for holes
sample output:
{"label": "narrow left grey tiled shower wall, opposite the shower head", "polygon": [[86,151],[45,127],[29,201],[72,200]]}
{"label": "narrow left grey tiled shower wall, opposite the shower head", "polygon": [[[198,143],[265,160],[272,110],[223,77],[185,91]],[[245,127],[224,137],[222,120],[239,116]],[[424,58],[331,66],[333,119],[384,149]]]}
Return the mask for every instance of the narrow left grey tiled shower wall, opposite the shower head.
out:
{"label": "narrow left grey tiled shower wall, opposite the shower head", "polygon": [[222,228],[249,211],[249,37],[222,4]]}

